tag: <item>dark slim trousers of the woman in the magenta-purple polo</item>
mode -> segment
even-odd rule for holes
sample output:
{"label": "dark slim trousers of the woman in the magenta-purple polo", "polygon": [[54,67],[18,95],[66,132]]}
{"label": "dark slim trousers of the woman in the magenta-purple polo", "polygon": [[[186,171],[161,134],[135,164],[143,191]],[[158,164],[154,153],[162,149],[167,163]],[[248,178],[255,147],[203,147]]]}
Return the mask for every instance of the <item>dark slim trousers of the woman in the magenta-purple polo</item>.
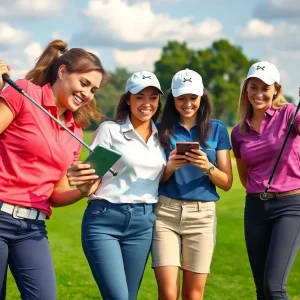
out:
{"label": "dark slim trousers of the woman in the magenta-purple polo", "polygon": [[245,238],[257,300],[288,300],[286,281],[300,248],[300,195],[247,195]]}

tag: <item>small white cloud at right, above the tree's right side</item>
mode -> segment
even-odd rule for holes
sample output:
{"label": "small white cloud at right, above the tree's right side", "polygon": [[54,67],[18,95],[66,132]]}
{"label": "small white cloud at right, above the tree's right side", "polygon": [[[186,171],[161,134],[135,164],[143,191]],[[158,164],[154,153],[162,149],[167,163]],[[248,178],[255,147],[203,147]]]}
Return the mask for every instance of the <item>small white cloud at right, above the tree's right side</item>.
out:
{"label": "small white cloud at right, above the tree's right side", "polygon": [[267,24],[261,20],[250,20],[245,28],[237,29],[237,36],[242,39],[257,39],[271,37],[275,33],[274,25]]}

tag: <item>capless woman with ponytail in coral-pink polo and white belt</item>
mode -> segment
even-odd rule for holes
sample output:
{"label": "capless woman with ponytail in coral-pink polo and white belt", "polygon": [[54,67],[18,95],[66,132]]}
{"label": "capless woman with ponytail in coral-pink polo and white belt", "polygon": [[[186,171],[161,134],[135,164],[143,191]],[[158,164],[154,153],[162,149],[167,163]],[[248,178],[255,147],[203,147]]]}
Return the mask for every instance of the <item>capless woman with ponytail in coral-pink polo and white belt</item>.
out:
{"label": "capless woman with ponytail in coral-pink polo and white belt", "polygon": [[[99,119],[93,100],[106,74],[98,57],[51,42],[26,79],[23,90],[79,137]],[[9,68],[0,62],[2,74]],[[0,299],[5,299],[9,265],[22,299],[56,299],[55,275],[45,218],[52,205],[83,197],[69,187],[67,168],[81,144],[24,96],[8,87],[0,93]]]}

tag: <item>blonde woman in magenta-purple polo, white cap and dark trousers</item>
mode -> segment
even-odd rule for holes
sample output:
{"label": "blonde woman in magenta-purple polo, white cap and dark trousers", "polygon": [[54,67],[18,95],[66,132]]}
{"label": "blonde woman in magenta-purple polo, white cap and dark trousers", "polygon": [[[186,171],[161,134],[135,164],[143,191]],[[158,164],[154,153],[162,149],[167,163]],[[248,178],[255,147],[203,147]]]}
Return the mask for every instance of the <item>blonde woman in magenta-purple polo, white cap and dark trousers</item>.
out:
{"label": "blonde woman in magenta-purple polo, white cap and dark trousers", "polygon": [[300,115],[269,193],[262,197],[295,106],[282,94],[275,65],[253,64],[241,91],[232,148],[245,187],[245,238],[258,300],[289,299],[286,281],[300,247]]}

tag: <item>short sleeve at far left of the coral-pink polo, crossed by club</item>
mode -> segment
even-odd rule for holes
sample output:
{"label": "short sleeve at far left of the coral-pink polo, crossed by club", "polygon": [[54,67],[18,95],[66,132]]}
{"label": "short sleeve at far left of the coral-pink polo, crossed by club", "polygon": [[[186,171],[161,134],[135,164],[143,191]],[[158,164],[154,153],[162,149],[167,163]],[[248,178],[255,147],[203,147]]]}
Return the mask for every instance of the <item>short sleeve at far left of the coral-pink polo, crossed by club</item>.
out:
{"label": "short sleeve at far left of the coral-pink polo, crossed by club", "polygon": [[[20,79],[16,81],[25,92],[27,91],[28,81],[25,79]],[[8,105],[9,109],[12,111],[14,118],[20,113],[24,105],[25,97],[16,91],[13,87],[8,86],[0,93],[0,98],[2,98]]]}

